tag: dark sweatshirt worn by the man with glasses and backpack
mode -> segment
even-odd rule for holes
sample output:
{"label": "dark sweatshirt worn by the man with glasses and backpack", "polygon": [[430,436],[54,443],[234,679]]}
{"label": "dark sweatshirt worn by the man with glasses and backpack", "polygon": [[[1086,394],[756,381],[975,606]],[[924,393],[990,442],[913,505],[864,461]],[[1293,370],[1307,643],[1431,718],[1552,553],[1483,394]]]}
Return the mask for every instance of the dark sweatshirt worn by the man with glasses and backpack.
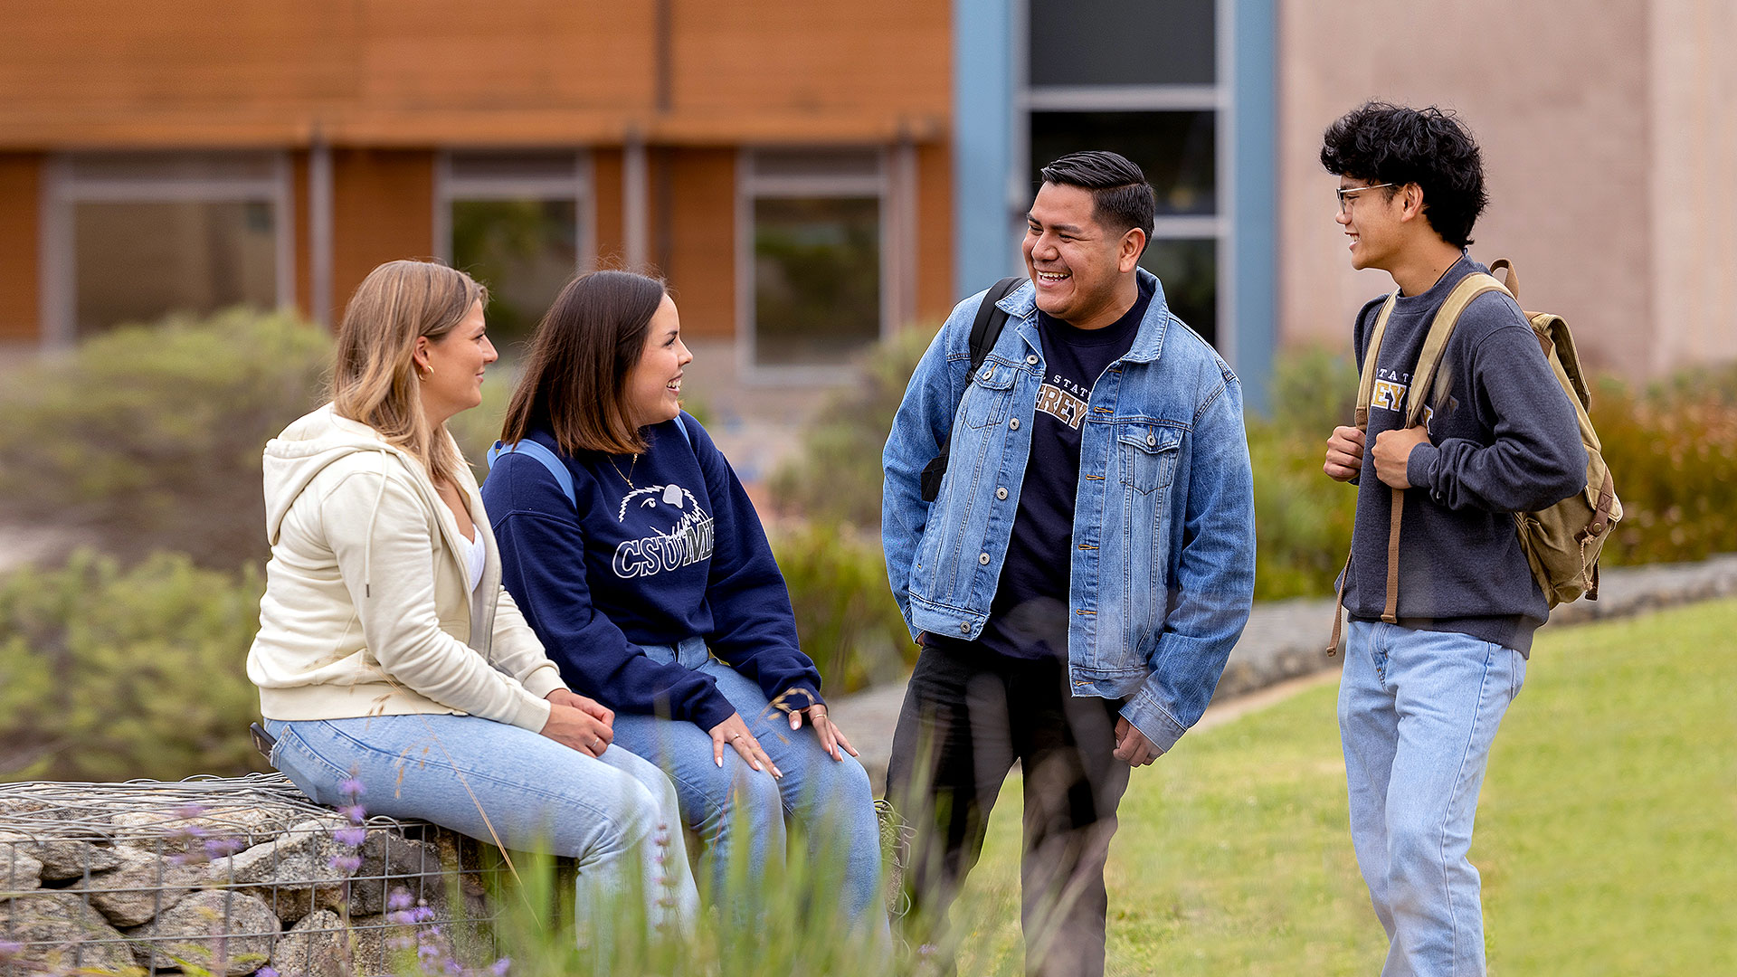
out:
{"label": "dark sweatshirt worn by the man with glasses and backpack", "polygon": [[[1374,443],[1403,424],[1412,370],[1435,313],[1461,278],[1485,266],[1461,256],[1426,292],[1400,296],[1376,362],[1374,403],[1358,475],[1344,607],[1379,621],[1386,605],[1393,492],[1376,478]],[[1362,369],[1376,313],[1357,316]],[[1586,488],[1586,449],[1569,395],[1556,382],[1520,306],[1501,292],[1466,306],[1442,351],[1426,428],[1405,466],[1398,617],[1424,631],[1457,631],[1529,652],[1549,605],[1527,565],[1513,513],[1544,509]]]}

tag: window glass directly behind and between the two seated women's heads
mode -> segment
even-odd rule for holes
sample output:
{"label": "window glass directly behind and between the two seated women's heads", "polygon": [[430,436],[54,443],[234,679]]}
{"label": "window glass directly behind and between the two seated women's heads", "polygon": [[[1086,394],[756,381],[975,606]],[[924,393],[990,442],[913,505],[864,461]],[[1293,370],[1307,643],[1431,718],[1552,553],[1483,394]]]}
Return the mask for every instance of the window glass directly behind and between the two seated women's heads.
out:
{"label": "window glass directly behind and between the two seated women's heads", "polygon": [[511,355],[592,263],[589,155],[448,153],[436,186],[436,238],[488,287],[488,330]]}

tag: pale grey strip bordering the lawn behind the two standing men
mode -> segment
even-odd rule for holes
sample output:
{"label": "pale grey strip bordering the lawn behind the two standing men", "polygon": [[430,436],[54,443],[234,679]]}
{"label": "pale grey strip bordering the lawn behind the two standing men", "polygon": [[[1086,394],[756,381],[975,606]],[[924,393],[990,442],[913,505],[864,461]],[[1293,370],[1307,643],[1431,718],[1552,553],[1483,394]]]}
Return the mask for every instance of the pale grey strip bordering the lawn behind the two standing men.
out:
{"label": "pale grey strip bordering the lawn behind the two standing men", "polygon": [[[1713,556],[1701,563],[1615,567],[1602,574],[1596,601],[1579,600],[1558,607],[1546,628],[1629,617],[1674,603],[1732,595],[1737,595],[1737,555]],[[1195,728],[1230,721],[1292,692],[1329,681],[1331,671],[1339,668],[1339,657],[1325,654],[1331,633],[1332,598],[1256,603],[1242,640],[1230,654],[1212,704]],[[903,701],[903,681],[832,699],[832,714],[862,751],[863,767],[877,793],[886,779],[893,727],[898,725]]]}

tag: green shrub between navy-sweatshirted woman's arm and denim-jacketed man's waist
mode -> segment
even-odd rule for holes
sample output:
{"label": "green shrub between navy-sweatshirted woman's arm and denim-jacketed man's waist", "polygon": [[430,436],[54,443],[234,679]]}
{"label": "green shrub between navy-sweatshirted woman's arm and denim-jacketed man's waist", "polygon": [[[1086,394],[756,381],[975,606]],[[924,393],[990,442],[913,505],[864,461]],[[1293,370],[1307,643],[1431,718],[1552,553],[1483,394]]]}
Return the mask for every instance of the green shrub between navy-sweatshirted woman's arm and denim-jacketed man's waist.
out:
{"label": "green shrub between navy-sweatshirted woman's arm and denim-jacketed man's waist", "polygon": [[790,523],[771,532],[790,586],[796,633],[827,694],[896,680],[917,647],[886,582],[881,542],[846,525]]}

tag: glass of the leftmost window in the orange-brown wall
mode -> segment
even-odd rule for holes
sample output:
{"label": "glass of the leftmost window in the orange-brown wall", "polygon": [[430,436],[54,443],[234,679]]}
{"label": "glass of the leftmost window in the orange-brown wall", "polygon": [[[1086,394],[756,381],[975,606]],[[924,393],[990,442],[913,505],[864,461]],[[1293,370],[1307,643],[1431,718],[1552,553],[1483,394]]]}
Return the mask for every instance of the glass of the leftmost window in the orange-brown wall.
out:
{"label": "glass of the leftmost window in the orange-brown wall", "polygon": [[50,163],[47,341],[294,304],[280,153],[80,153]]}

